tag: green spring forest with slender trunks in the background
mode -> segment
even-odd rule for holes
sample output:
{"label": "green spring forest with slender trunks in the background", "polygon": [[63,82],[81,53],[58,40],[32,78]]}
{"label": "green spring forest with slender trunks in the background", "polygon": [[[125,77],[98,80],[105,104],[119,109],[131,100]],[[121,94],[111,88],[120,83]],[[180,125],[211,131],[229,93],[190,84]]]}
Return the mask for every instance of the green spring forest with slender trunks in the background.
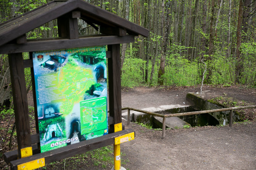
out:
{"label": "green spring forest with slender trunks in the background", "polygon": [[[86,0],[149,29],[121,45],[122,87],[204,84],[256,87],[255,0]],[[0,23],[50,0],[1,0]],[[99,34],[78,21],[79,34]],[[96,25],[96,27],[99,27]],[[27,39],[58,37],[57,20]],[[24,59],[28,54],[24,53]],[[7,55],[0,56],[1,103],[10,97]],[[30,70],[25,70],[31,88]]]}

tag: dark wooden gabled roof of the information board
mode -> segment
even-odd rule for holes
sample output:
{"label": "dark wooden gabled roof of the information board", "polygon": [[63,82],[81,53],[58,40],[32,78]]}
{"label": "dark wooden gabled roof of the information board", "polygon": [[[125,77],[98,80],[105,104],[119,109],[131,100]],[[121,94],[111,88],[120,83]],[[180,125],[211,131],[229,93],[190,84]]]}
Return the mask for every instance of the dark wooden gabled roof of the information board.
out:
{"label": "dark wooden gabled roof of the information board", "polygon": [[147,37],[149,30],[83,0],[55,0],[0,24],[0,46],[71,11],[100,26],[119,27],[128,34]]}

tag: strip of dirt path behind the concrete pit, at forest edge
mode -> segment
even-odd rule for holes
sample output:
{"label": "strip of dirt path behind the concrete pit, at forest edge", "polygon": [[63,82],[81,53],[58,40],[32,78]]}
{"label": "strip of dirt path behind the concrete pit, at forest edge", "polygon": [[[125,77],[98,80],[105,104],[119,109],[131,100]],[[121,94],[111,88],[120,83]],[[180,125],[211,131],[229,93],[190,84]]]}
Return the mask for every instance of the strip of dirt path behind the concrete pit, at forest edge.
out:
{"label": "strip of dirt path behind the concrete pit, at forest edge", "polygon": [[[198,92],[200,87],[181,87],[181,88],[147,88],[135,87],[133,89],[122,91],[122,107],[134,107],[143,109],[146,107],[157,107],[161,105],[180,104],[188,105],[186,94],[189,92]],[[203,87],[202,97],[212,99],[215,97],[232,97],[256,103],[256,89],[245,87]]]}

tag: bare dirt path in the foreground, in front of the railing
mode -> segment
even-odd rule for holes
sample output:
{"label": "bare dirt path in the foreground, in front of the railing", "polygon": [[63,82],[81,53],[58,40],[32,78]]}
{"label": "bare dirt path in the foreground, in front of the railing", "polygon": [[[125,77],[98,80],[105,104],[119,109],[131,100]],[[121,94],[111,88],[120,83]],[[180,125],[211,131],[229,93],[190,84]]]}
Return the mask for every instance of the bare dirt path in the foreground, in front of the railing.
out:
{"label": "bare dirt path in the foreground, in front of the railing", "polygon": [[[126,123],[126,121],[123,121]],[[161,131],[131,123],[136,137],[121,144],[127,170],[252,170],[256,168],[256,123]]]}

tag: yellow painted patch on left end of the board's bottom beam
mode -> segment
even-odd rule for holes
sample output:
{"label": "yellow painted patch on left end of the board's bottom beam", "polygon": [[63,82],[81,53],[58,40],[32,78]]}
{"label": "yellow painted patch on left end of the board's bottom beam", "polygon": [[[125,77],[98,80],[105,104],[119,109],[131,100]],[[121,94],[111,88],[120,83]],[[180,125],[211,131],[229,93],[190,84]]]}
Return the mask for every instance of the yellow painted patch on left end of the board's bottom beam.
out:
{"label": "yellow painted patch on left end of the board's bottom beam", "polygon": [[44,158],[40,158],[37,160],[32,160],[30,162],[26,162],[24,164],[20,164],[17,166],[18,170],[33,170],[36,168],[41,168],[45,166]]}

